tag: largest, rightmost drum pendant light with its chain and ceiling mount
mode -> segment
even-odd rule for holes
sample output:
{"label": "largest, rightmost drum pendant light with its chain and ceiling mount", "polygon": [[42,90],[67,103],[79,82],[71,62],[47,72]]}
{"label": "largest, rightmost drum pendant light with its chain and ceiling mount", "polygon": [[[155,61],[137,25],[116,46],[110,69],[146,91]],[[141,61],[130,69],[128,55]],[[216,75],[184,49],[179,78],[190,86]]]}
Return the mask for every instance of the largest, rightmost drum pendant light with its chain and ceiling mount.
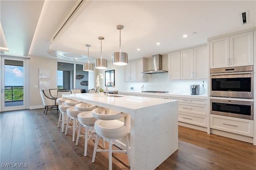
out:
{"label": "largest, rightmost drum pendant light with its chain and ceiling mount", "polygon": [[121,29],[124,29],[123,25],[117,25],[116,29],[120,30],[120,43],[119,43],[119,52],[113,53],[113,64],[123,66],[128,63],[128,54],[121,52]]}

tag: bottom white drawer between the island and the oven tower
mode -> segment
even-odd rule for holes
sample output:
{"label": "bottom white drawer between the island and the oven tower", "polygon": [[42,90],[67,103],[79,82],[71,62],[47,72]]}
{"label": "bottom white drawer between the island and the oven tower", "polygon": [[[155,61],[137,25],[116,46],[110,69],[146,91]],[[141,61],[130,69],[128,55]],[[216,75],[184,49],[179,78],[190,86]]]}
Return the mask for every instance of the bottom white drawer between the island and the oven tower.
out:
{"label": "bottom white drawer between the island and the oven tower", "polygon": [[198,125],[202,127],[207,127],[207,119],[205,116],[183,114],[179,112],[178,121],[181,121],[184,123],[190,123],[190,124]]}

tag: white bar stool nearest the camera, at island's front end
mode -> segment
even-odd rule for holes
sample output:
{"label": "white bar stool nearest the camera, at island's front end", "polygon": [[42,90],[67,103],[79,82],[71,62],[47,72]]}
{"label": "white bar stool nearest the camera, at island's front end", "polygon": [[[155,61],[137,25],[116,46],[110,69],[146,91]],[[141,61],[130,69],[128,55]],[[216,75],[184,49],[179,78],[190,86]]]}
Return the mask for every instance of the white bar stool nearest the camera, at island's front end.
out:
{"label": "white bar stool nearest the camera, at island's front end", "polygon": [[[130,115],[106,108],[97,108],[92,110],[93,117],[99,119],[95,121],[94,128],[96,131],[96,140],[92,156],[92,162],[95,160],[96,152],[108,152],[108,168],[112,169],[112,153],[127,153],[130,166],[130,148],[128,142],[128,134],[130,133]],[[124,122],[117,120],[124,118]],[[108,139],[108,150],[97,149],[99,137]],[[126,141],[126,150],[112,150],[112,142],[120,137],[124,137]]]}

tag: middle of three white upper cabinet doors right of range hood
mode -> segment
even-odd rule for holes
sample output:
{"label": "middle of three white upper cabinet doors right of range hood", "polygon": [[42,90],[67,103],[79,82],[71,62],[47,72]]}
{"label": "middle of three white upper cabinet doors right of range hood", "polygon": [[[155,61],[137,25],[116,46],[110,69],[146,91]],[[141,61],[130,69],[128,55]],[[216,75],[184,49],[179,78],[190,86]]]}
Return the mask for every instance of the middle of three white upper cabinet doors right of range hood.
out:
{"label": "middle of three white upper cabinet doors right of range hood", "polygon": [[180,51],[180,79],[194,78],[194,49]]}

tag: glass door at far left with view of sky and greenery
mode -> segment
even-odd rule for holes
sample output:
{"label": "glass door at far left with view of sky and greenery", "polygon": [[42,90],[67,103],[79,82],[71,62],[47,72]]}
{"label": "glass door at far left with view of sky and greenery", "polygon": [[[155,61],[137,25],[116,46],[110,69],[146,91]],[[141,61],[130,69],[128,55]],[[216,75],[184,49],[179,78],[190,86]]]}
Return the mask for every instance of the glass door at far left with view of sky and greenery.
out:
{"label": "glass door at far left with view of sky and greenery", "polygon": [[26,109],[26,59],[2,57],[1,111]]}

